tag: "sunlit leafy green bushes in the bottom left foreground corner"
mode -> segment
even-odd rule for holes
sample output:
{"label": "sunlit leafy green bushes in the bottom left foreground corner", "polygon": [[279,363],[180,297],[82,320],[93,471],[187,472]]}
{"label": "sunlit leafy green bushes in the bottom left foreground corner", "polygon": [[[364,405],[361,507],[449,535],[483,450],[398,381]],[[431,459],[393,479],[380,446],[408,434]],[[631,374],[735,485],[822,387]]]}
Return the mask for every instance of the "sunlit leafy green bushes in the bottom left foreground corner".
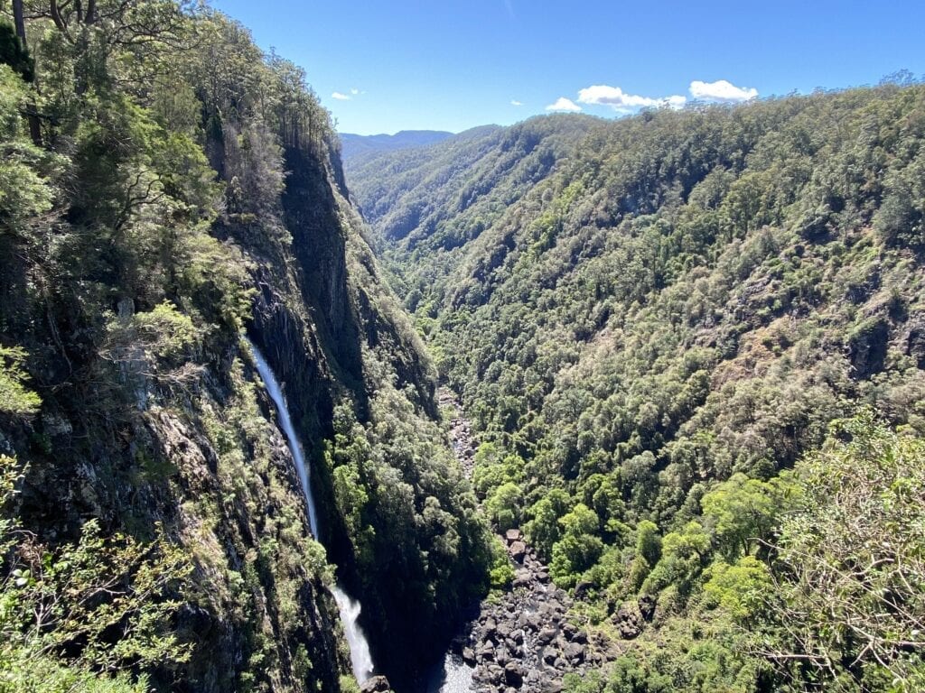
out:
{"label": "sunlit leafy green bushes in the bottom left foreground corner", "polygon": [[[0,456],[5,513],[19,480],[17,461]],[[141,693],[146,679],[133,683],[120,672],[189,659],[170,626],[178,603],[167,595],[191,565],[163,535],[151,544],[103,538],[91,520],[80,541],[51,551],[2,517],[0,554],[0,690]],[[100,670],[117,677],[101,678]]]}

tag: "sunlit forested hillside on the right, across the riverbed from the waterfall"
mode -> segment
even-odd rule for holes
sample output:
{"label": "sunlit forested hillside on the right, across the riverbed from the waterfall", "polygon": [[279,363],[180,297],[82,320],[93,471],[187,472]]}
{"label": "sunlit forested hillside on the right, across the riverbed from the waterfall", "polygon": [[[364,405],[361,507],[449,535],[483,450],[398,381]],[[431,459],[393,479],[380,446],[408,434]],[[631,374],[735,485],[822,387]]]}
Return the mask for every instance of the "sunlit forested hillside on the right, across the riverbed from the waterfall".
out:
{"label": "sunlit forested hillside on the right, across the riverbed from the waterfall", "polygon": [[575,691],[925,687],[925,87],[548,116],[348,181],[611,638]]}

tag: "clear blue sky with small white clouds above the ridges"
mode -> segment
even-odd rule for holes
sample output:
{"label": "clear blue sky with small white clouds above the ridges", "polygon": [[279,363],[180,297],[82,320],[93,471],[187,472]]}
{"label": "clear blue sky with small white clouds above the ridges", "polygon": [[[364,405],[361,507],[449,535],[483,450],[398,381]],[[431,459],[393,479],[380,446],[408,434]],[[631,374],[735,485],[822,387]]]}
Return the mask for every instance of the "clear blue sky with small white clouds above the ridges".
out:
{"label": "clear blue sky with small white clouds above the ridges", "polygon": [[618,116],[681,105],[693,82],[732,100],[925,73],[925,2],[912,0],[211,4],[304,67],[339,130],[360,134],[508,125],[557,103]]}

